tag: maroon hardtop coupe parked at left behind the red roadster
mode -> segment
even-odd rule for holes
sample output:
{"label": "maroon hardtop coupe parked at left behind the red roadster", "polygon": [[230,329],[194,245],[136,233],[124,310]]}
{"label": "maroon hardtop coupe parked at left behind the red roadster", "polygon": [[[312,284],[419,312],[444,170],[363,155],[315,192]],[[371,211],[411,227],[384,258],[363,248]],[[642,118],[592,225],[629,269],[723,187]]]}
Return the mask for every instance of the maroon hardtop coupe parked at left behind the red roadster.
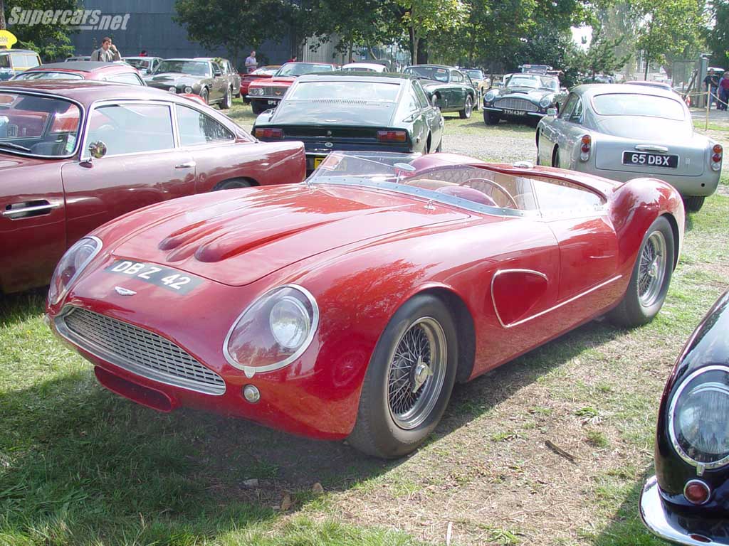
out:
{"label": "maroon hardtop coupe parked at left behind the red roadster", "polygon": [[0,86],[0,293],[46,285],[87,232],[146,205],[302,181],[301,143],[259,143],[226,116],[148,87]]}

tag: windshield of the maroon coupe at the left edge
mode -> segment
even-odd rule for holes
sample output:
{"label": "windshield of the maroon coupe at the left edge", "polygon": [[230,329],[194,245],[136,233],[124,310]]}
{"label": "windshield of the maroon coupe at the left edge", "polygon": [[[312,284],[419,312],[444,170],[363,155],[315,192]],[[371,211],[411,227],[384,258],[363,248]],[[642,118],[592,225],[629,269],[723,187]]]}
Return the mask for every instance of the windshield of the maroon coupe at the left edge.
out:
{"label": "windshield of the maroon coupe at the left edge", "polygon": [[81,114],[58,98],[0,92],[0,153],[68,157],[76,148]]}

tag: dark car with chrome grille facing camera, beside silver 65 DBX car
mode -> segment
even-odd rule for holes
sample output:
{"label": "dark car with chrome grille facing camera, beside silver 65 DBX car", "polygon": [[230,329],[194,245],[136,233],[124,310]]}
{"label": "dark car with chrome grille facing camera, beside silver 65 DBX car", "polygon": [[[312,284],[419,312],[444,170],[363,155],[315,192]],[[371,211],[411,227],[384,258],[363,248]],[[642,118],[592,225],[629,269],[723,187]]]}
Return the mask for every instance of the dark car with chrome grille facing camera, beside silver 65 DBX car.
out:
{"label": "dark car with chrome grille facing camera, beside silver 65 DBX car", "polygon": [[483,122],[495,125],[502,119],[536,125],[549,108],[559,108],[559,79],[547,74],[512,74],[504,87],[483,95]]}

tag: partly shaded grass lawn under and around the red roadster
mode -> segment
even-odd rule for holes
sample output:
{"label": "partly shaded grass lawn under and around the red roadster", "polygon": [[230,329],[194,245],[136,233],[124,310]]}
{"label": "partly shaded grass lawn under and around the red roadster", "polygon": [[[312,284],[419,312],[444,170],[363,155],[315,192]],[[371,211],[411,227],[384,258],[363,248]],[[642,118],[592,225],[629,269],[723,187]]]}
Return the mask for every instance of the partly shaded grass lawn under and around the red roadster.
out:
{"label": "partly shaded grass lawn under and around the red roadster", "polygon": [[[246,128],[254,119],[243,106],[231,115]],[[397,462],[241,420],[142,408],[99,387],[51,336],[43,293],[7,296],[0,545],[442,545],[448,529],[453,545],[661,545],[636,503],[652,472],[663,384],[728,285],[727,218],[722,194],[690,215],[652,323],[590,323],[456,387],[426,446]]]}

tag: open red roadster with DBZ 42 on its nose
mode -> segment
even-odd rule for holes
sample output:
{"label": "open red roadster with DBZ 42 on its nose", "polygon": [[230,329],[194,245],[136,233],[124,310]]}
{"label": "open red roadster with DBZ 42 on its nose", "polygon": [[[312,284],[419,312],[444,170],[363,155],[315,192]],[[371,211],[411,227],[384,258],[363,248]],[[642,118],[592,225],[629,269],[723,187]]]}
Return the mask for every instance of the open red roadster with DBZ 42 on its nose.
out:
{"label": "open red roadster with DBZ 42 on its nose", "polygon": [[604,314],[658,313],[683,239],[668,184],[411,159],[333,152],[305,184],[107,223],[58,265],[50,324],[150,408],[397,457],[455,381]]}

